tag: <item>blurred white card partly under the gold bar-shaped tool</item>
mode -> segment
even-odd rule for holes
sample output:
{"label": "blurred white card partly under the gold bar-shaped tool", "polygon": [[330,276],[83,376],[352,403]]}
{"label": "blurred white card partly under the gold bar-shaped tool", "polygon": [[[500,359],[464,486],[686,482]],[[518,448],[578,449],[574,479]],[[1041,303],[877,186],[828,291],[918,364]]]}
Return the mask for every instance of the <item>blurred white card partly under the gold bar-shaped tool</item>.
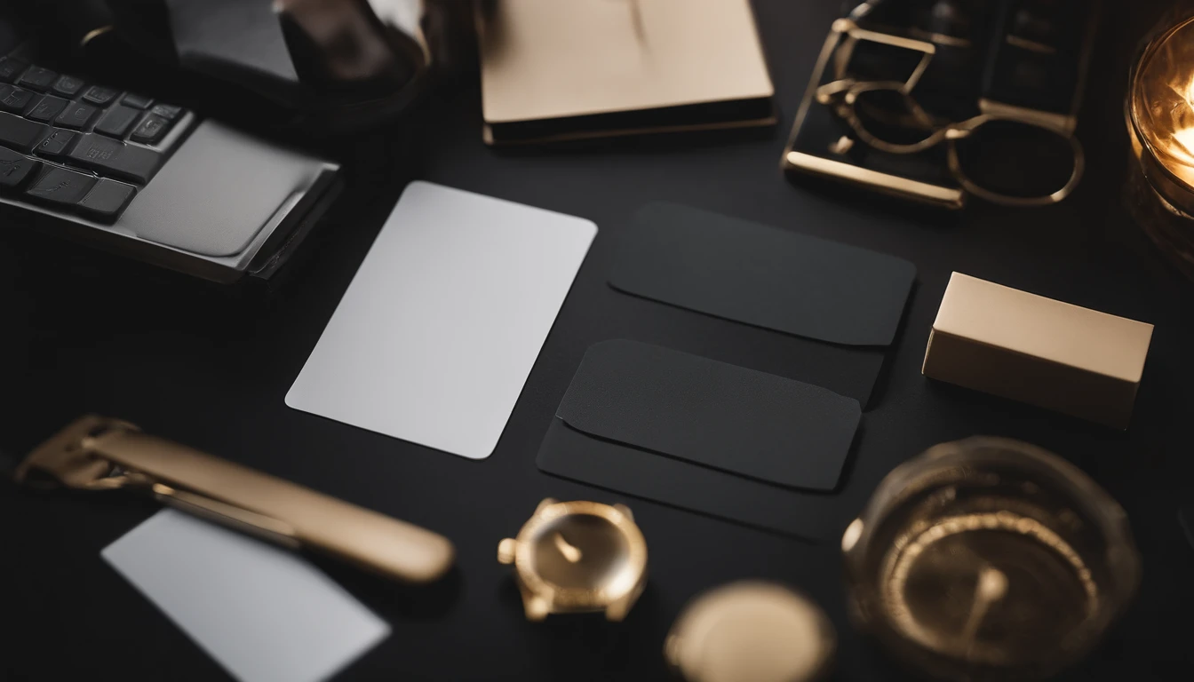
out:
{"label": "blurred white card partly under the gold bar-shaped tool", "polygon": [[101,554],[242,682],[326,680],[389,634],[297,554],[178,511]]}

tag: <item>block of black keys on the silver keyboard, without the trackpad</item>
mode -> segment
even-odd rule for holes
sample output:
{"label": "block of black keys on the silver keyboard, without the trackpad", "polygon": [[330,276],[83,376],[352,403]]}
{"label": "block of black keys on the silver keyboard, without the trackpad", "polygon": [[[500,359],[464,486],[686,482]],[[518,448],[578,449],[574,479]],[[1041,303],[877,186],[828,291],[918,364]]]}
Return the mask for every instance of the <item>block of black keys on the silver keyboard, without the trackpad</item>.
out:
{"label": "block of black keys on the silver keyboard, without the trackpad", "polygon": [[181,106],[0,57],[0,195],[113,222],[193,117]]}

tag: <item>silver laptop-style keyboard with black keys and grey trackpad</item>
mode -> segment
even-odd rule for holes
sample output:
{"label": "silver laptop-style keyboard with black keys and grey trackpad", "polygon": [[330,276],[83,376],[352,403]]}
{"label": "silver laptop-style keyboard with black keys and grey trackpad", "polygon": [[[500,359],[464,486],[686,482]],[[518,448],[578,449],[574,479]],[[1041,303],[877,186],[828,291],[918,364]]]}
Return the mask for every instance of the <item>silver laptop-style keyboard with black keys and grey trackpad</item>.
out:
{"label": "silver laptop-style keyboard with black keys and grey trackpad", "polygon": [[339,193],[338,164],[162,102],[144,75],[97,79],[4,10],[0,43],[0,240],[47,264],[56,242],[23,234],[272,288]]}

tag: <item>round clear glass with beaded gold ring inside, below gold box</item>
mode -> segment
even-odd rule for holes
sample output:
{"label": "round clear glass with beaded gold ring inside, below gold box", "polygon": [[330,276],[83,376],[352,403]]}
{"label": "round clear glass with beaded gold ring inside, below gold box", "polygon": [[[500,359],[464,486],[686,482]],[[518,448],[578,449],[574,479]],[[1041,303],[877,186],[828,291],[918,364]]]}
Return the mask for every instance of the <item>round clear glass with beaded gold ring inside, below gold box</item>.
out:
{"label": "round clear glass with beaded gold ring inside, below gold box", "polygon": [[1122,509],[1072,465],[1003,438],[893,471],[842,540],[855,615],[948,680],[1028,680],[1079,659],[1131,600]]}

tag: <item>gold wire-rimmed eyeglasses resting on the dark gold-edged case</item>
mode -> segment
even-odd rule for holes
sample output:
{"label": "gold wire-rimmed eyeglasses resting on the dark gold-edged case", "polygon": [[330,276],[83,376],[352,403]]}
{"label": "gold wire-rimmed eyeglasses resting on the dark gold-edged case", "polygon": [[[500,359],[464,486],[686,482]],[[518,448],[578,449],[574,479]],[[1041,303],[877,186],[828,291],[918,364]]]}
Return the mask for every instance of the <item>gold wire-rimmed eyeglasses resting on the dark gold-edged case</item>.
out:
{"label": "gold wire-rimmed eyeglasses resting on the dark gold-edged case", "polygon": [[[1070,196],[1082,179],[1082,145],[1072,129],[1053,116],[1004,106],[950,121],[925,109],[912,92],[936,54],[931,43],[861,30],[850,19],[833,24],[830,42],[835,54],[825,61],[825,69],[832,64],[836,80],[817,87],[816,102],[827,106],[868,147],[887,154],[918,154],[943,145],[946,164],[958,184],[971,195],[1003,205],[1054,204]],[[904,80],[860,79],[850,74],[849,64],[857,47],[867,43],[912,50],[919,59]],[[1028,176],[1040,177],[1028,182]],[[1016,189],[1024,193],[1005,189],[1013,184],[1021,185]]]}

